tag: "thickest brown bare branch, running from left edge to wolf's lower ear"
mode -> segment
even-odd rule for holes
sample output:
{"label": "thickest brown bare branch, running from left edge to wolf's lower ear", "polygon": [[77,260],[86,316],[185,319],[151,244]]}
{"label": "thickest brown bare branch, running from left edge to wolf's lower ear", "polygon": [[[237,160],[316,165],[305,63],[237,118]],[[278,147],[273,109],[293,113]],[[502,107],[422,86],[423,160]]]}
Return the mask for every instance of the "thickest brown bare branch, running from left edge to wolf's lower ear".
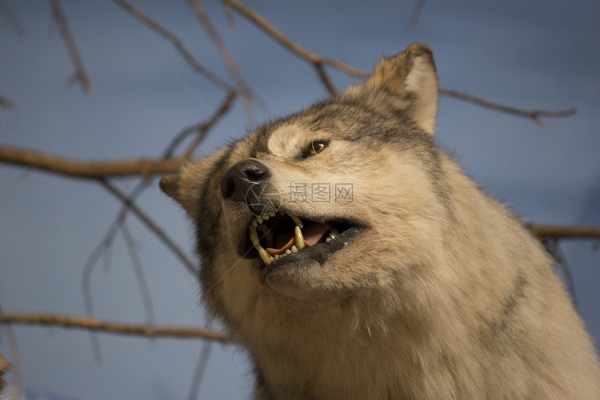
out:
{"label": "thickest brown bare branch, running from left edge to wolf's lower ear", "polygon": [[68,177],[98,179],[103,177],[150,177],[177,172],[184,160],[133,158],[121,161],[75,161],[39,151],[0,146],[0,163],[21,165]]}

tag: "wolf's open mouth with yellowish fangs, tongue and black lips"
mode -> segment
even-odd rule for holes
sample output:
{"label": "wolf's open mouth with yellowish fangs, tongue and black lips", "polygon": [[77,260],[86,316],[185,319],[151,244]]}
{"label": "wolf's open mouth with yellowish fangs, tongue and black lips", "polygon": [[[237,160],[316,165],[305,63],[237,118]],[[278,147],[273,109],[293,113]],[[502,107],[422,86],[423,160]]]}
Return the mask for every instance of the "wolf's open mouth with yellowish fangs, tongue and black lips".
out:
{"label": "wolf's open mouth with yellowish fangs, tongue and black lips", "polygon": [[306,258],[322,264],[329,253],[342,249],[358,233],[359,228],[347,222],[303,221],[282,212],[256,216],[248,225],[250,244],[265,266]]}

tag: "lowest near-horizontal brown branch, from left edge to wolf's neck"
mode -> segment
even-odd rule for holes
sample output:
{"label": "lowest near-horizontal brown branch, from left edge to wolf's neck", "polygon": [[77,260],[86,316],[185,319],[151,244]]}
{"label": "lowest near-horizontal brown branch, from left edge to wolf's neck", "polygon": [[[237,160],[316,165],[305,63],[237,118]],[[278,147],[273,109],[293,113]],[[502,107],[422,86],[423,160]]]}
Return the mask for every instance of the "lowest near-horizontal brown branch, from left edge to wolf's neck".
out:
{"label": "lowest near-horizontal brown branch, from left edge to wolf's neck", "polygon": [[51,325],[66,328],[89,329],[94,332],[114,334],[143,335],[151,337],[179,337],[232,341],[230,336],[221,332],[195,327],[154,326],[114,323],[106,320],[79,316],[59,316],[47,313],[0,313],[2,324]]}

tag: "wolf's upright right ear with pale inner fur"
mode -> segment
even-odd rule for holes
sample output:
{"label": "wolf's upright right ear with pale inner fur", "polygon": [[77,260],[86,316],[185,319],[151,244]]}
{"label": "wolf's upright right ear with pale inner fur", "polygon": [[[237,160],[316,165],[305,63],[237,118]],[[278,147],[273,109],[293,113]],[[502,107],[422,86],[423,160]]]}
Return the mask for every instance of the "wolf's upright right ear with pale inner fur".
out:
{"label": "wolf's upright right ear with pale inner fur", "polygon": [[382,59],[361,86],[400,97],[407,114],[424,131],[435,133],[437,74],[433,53],[426,45],[413,43],[400,54]]}

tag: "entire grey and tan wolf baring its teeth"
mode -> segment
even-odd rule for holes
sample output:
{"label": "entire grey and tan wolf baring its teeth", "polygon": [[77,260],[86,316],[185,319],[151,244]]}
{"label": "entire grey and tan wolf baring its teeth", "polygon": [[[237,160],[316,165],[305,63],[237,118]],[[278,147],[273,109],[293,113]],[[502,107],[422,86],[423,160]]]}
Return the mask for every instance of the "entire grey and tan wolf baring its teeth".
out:
{"label": "entire grey and tan wolf baring its teeth", "polygon": [[600,399],[553,259],[435,144],[436,114],[412,44],[161,179],[254,399]]}

